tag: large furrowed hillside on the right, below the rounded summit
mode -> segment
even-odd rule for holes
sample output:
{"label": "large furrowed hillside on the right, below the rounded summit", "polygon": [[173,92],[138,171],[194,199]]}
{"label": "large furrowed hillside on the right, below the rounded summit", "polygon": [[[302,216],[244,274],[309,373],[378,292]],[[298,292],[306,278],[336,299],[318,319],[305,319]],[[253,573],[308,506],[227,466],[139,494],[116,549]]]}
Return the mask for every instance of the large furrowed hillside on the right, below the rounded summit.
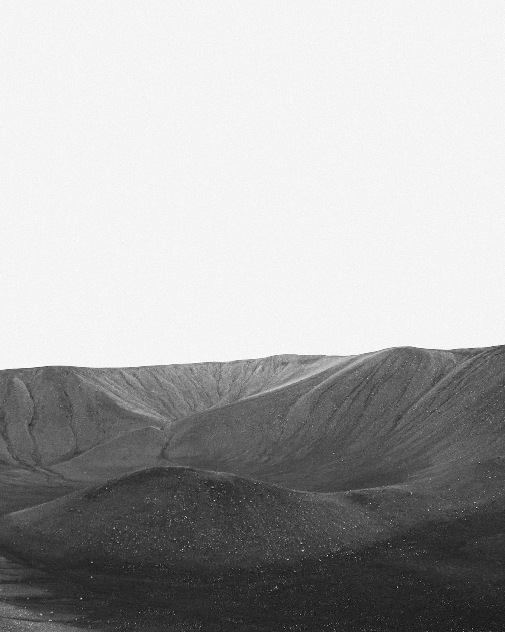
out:
{"label": "large furrowed hillside on the right, below the rounded summit", "polygon": [[504,381],[503,347],[387,349],[181,420],[165,452],[173,463],[326,492],[450,475],[505,453]]}

